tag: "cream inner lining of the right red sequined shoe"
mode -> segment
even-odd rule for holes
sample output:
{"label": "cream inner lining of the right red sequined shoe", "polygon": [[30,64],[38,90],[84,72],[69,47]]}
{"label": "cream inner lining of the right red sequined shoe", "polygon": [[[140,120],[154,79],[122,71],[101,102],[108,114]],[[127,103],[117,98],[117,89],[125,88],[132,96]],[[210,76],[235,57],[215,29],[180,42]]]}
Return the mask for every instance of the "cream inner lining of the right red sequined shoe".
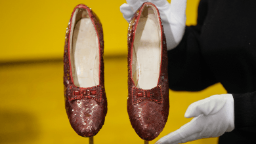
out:
{"label": "cream inner lining of the right red sequined shoe", "polygon": [[158,84],[161,64],[161,31],[158,12],[146,5],[140,15],[133,43],[132,75],[137,88],[145,90]]}

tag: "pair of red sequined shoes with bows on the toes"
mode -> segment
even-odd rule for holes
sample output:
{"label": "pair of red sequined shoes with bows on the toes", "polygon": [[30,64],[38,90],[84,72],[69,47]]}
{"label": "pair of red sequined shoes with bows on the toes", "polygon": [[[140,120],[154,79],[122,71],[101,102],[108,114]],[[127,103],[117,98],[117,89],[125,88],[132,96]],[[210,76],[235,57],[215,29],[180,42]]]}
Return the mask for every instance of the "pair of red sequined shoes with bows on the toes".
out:
{"label": "pair of red sequined shoes with bows on the toes", "polygon": [[[167,47],[158,9],[144,3],[128,29],[127,111],[135,132],[144,140],[158,137],[169,114]],[[104,90],[102,25],[85,5],[77,5],[66,33],[64,96],[72,128],[92,137],[104,124],[107,112]]]}

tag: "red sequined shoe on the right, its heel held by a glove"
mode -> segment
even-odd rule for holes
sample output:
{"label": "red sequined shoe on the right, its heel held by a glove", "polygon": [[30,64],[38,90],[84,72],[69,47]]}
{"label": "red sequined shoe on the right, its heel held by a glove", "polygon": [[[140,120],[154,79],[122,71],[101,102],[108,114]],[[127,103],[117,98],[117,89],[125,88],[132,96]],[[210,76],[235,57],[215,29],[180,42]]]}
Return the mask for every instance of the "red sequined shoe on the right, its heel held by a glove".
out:
{"label": "red sequined shoe on the right, its heel held by a glove", "polygon": [[167,46],[160,13],[149,2],[135,12],[128,29],[127,111],[135,132],[158,137],[169,115]]}

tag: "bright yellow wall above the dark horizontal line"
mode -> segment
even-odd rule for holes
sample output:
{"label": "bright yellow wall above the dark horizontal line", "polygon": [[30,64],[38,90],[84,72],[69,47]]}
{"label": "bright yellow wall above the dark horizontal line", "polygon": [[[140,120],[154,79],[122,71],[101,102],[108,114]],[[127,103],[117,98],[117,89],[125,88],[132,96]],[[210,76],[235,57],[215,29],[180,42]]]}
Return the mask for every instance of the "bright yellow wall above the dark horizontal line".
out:
{"label": "bright yellow wall above the dark horizontal line", "polygon": [[[199,0],[188,0],[187,24],[196,24]],[[170,2],[170,1],[169,1]],[[105,55],[127,54],[125,0],[0,1],[0,62],[62,58],[66,26],[75,5],[85,3],[100,18]]]}

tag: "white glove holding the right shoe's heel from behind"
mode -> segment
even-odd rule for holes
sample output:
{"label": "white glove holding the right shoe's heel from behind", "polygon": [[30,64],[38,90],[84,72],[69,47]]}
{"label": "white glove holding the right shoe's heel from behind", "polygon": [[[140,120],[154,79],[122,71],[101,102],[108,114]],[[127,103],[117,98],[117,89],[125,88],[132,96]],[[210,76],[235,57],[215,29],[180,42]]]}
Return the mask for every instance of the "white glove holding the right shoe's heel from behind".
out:
{"label": "white glove holding the right shoe's heel from behind", "polygon": [[133,14],[146,1],[154,3],[160,12],[165,31],[167,50],[175,48],[181,42],[186,27],[186,0],[126,0],[120,7],[123,18],[129,22]]}

